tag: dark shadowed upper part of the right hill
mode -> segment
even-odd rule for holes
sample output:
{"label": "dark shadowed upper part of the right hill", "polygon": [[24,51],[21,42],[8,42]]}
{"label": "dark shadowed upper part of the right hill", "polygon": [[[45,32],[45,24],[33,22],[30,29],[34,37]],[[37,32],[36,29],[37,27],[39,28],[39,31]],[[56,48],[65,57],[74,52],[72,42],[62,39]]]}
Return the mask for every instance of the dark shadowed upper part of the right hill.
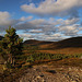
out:
{"label": "dark shadowed upper part of the right hill", "polygon": [[72,37],[51,44],[51,48],[80,48],[82,47],[82,37]]}

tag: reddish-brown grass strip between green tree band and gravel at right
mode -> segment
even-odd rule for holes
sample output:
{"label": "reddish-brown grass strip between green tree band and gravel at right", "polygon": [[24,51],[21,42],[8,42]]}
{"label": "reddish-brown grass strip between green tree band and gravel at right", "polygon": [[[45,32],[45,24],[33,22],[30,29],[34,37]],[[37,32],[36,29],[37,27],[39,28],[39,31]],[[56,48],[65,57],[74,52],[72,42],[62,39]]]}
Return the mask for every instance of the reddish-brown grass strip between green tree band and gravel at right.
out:
{"label": "reddish-brown grass strip between green tree band and gravel at right", "polygon": [[49,66],[71,66],[71,67],[80,67],[82,68],[82,59],[79,58],[70,58],[70,59],[62,59],[58,61],[50,61],[48,62]]}

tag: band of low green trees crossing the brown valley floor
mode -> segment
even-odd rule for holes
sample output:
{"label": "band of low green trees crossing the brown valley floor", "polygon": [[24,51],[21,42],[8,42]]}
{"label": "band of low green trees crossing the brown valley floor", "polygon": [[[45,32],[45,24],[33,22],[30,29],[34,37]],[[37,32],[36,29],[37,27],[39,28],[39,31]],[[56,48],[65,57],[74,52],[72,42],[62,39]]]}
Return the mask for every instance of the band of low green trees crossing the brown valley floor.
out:
{"label": "band of low green trees crossing the brown valley floor", "polygon": [[28,55],[26,61],[33,62],[38,60],[54,60],[54,59],[66,59],[66,58],[80,58],[82,54],[74,54],[74,55],[63,55],[63,54],[33,54]]}

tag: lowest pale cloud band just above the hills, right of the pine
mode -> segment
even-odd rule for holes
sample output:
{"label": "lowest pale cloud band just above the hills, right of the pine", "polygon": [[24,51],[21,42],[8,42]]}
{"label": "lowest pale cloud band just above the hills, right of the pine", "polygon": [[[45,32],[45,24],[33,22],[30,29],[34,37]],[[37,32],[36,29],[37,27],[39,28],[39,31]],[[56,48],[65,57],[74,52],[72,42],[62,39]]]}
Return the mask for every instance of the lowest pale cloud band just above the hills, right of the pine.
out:
{"label": "lowest pale cloud band just above the hills, right of the pine", "polygon": [[54,35],[45,35],[45,34],[35,34],[35,35],[32,35],[32,34],[20,34],[20,36],[22,38],[24,38],[24,40],[26,39],[39,39],[39,40],[50,40],[50,42],[57,42],[57,40],[61,40],[63,39],[63,35],[62,34],[54,34]]}

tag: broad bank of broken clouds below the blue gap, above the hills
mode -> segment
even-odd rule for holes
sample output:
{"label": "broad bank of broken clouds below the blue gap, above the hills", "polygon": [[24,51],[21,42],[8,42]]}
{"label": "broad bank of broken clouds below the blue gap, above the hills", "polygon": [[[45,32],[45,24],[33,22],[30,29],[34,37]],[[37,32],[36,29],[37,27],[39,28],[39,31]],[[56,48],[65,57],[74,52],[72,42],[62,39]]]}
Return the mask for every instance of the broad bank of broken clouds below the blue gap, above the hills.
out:
{"label": "broad bank of broken clouds below the blue gap, above the hills", "polygon": [[9,25],[13,25],[17,31],[23,31],[20,34],[24,39],[40,39],[40,40],[60,40],[65,36],[80,35],[82,24],[79,17],[71,19],[33,19],[33,16],[22,16],[13,20],[9,12],[0,12],[0,30],[5,31]]}

